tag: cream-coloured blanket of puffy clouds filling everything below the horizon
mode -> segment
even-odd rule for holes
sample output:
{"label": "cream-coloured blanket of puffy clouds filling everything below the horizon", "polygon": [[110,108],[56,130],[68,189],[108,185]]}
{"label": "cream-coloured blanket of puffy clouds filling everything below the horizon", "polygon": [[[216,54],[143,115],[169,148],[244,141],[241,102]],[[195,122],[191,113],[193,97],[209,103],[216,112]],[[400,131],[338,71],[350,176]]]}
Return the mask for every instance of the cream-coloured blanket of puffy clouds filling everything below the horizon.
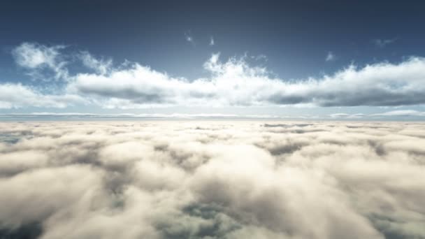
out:
{"label": "cream-coloured blanket of puffy clouds filling everything below the horizon", "polygon": [[0,237],[425,238],[425,125],[0,124]]}

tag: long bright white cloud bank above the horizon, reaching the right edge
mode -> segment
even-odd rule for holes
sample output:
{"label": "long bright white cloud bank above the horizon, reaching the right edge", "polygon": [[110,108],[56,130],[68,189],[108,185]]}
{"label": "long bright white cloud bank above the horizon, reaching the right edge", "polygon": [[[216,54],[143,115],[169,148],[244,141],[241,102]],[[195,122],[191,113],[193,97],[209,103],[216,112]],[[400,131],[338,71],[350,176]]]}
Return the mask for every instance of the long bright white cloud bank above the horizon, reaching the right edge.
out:
{"label": "long bright white cloud bank above the horizon, reaching the right edge", "polygon": [[[78,74],[69,85],[75,94],[99,97],[113,107],[181,106],[402,106],[425,103],[425,59],[400,64],[350,66],[323,78],[287,82],[271,78],[266,68],[251,67],[245,59],[222,63],[214,54],[203,65],[210,78],[172,78],[133,64],[110,75]],[[103,99],[103,101],[102,101]],[[119,104],[122,104],[120,106]]]}

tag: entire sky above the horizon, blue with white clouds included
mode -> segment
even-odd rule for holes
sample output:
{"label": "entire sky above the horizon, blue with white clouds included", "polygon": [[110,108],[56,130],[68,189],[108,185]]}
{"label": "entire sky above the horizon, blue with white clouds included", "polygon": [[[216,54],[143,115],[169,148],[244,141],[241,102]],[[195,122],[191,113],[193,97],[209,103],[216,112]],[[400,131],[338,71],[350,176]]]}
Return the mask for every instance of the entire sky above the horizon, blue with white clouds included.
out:
{"label": "entire sky above the horizon, blue with white clouds included", "polygon": [[423,120],[421,1],[3,1],[0,117]]}

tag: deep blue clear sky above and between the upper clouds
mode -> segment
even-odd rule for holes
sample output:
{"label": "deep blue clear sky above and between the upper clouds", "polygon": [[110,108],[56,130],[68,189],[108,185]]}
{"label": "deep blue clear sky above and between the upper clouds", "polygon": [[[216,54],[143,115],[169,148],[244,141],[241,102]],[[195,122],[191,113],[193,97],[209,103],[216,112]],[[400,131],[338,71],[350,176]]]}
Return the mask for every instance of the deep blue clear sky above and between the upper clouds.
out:
{"label": "deep blue clear sky above and between the upper clouds", "polygon": [[[398,65],[410,57],[425,57],[424,13],[424,1],[2,1],[0,83],[24,84],[40,92],[46,89],[53,92],[62,89],[64,92],[69,84],[70,80],[52,83],[29,76],[28,68],[19,66],[11,53],[22,43],[36,44],[40,48],[45,46],[45,49],[65,45],[61,54],[67,54],[66,61],[73,61],[71,58],[75,57],[75,52],[87,51],[97,59],[113,59],[114,66],[128,60],[150,66],[170,77],[188,80],[208,78],[211,72],[203,64],[217,52],[220,52],[222,62],[229,57],[247,55],[249,57],[245,61],[248,64],[266,67],[271,78],[294,82],[309,77],[320,79],[323,75],[344,71],[350,64],[359,68],[367,64]],[[192,38],[192,42],[187,41],[188,37]],[[214,45],[210,45],[211,38]],[[43,71],[52,67],[45,67],[45,63],[41,66]],[[81,66],[68,64],[66,71],[75,75],[81,72]],[[72,79],[75,81],[75,78]],[[403,80],[408,82],[409,79]],[[403,80],[388,82],[389,88],[394,84],[405,85]],[[81,95],[82,89],[78,90],[78,95]],[[332,90],[319,96],[315,96],[314,92],[312,89],[308,99],[299,95],[291,95],[291,99],[287,99],[289,96],[270,94],[266,101],[278,105],[313,103],[322,108],[312,112],[326,114],[377,112],[382,111],[380,107],[422,111],[424,103],[422,95],[417,93],[416,96],[403,95],[403,98],[398,92],[387,92],[382,93],[382,97],[400,99],[376,101],[373,96],[362,96],[360,100],[340,99],[337,97],[340,93],[334,94]],[[123,97],[122,92],[102,92],[101,96],[117,97],[132,103],[141,103],[147,96],[149,101],[152,97],[158,98],[157,93],[136,93],[137,100]],[[197,92],[196,95],[203,93]],[[99,96],[96,91],[85,94]],[[190,94],[191,97],[193,95]],[[226,97],[224,99],[229,100]],[[333,98],[338,98],[338,102]],[[159,101],[156,103],[166,102],[162,98]],[[242,106],[252,103],[241,103],[238,99],[230,106],[235,102]],[[34,109],[57,111],[38,106],[17,110],[22,107],[6,105],[8,107],[3,107],[6,113]],[[375,108],[365,110],[361,107]],[[105,108],[85,105],[72,110],[103,112]],[[198,113],[199,110],[182,111]],[[210,111],[217,113],[217,110]],[[255,110],[248,111],[254,113]],[[292,108],[285,113],[299,115],[299,111]],[[305,110],[301,111],[305,113]],[[150,109],[149,112],[162,113],[164,109]]]}

